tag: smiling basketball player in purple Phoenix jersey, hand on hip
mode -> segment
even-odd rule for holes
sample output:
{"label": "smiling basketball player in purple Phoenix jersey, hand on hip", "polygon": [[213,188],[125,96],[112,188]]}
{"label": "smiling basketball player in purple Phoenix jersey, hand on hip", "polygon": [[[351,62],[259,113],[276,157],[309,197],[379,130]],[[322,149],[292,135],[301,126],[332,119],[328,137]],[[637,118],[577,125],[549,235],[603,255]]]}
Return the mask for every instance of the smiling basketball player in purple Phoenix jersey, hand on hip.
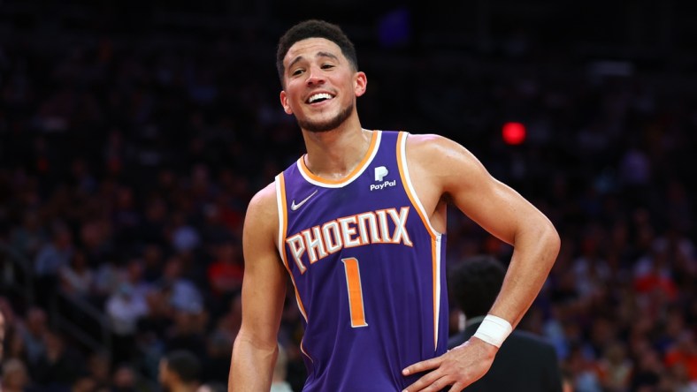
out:
{"label": "smiling basketball player in purple Phoenix jersey, hand on hip", "polygon": [[[338,26],[280,38],[280,103],[307,154],[249,202],[229,388],[268,391],[287,275],[303,314],[304,391],[460,391],[488,370],[554,263],[548,219],[436,135],[364,129],[367,78]],[[478,334],[446,352],[446,207],[514,246]]]}

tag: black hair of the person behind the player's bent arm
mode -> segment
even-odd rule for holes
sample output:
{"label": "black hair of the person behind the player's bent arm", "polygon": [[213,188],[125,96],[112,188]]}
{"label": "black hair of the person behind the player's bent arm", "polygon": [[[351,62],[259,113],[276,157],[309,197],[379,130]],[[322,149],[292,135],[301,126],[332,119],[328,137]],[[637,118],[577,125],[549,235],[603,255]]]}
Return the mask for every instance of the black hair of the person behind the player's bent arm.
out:
{"label": "black hair of the person behind the player's bent arm", "polygon": [[448,290],[465,317],[484,316],[501,291],[506,268],[490,255],[476,255],[448,271]]}

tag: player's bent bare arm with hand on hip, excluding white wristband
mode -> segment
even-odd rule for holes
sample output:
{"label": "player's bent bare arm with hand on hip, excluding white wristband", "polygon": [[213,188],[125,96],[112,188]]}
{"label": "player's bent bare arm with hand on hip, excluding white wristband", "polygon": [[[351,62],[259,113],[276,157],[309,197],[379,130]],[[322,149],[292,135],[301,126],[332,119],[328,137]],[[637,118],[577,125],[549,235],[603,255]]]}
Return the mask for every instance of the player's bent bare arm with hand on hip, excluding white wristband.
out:
{"label": "player's bent bare arm with hand on hip, excluding white wristband", "polygon": [[[560,240],[554,226],[452,140],[412,135],[407,157],[419,198],[426,208],[432,208],[435,221],[444,222],[439,216],[444,212],[438,207],[445,197],[483,229],[513,245],[509,269],[490,314],[508,320],[515,328],[540,292],[559,253]],[[459,391],[488,371],[496,351],[494,345],[471,338],[439,358],[407,367],[405,373],[409,374],[431,371],[407,390],[440,390],[453,385],[450,390]]]}

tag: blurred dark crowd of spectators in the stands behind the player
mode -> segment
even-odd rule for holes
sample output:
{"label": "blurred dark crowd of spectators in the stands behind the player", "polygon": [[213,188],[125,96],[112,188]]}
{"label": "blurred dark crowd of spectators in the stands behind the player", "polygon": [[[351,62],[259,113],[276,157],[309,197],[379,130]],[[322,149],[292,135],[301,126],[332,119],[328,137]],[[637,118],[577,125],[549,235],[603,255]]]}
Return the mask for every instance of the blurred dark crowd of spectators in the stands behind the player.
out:
{"label": "blurred dark crowd of spectators in the stands behind the player", "polygon": [[[180,350],[220,388],[241,321],[245,208],[303,153],[278,102],[280,30],[101,22],[17,22],[0,43],[0,245],[27,263],[35,292],[0,287],[2,388],[157,391],[160,358]],[[521,36],[461,53],[365,41],[364,127],[456,139],[555,223],[562,252],[519,328],[555,344],[566,381],[696,390],[689,75],[548,53]],[[506,121],[525,124],[524,143],[502,141]],[[449,220],[448,263],[510,252],[466,217]],[[300,390],[291,292],[279,340]],[[108,350],[61,328],[57,293],[103,314]]]}

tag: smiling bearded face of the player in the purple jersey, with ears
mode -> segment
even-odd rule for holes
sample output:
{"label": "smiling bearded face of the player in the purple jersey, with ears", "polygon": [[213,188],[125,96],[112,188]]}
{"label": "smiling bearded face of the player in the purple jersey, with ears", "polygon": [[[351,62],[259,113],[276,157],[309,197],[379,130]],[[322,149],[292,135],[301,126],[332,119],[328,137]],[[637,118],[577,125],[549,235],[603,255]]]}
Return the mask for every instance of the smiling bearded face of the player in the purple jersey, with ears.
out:
{"label": "smiling bearded face of the player in the purple jersey, with ears", "polygon": [[297,41],[283,59],[285,88],[280,102],[294,114],[301,128],[331,131],[356,114],[356,97],[367,80],[356,72],[333,41],[309,38]]}

